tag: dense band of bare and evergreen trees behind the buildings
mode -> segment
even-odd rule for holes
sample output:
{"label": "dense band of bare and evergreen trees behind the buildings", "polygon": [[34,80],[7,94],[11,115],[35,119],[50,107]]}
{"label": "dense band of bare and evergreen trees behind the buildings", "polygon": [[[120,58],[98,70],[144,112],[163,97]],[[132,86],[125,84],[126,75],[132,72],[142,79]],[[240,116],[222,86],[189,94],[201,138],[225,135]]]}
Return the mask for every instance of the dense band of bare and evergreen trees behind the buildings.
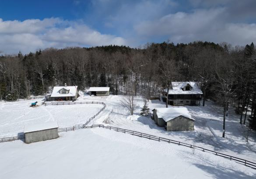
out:
{"label": "dense band of bare and evergreen trees behind the buildings", "polygon": [[0,100],[43,95],[64,83],[80,90],[109,86],[113,94],[134,93],[149,99],[173,81],[198,81],[203,106],[206,99],[221,104],[225,122],[233,105],[240,123],[250,117],[250,127],[256,129],[255,69],[253,43],[245,47],[196,41],[151,43],[144,48],[48,48],[0,56]]}

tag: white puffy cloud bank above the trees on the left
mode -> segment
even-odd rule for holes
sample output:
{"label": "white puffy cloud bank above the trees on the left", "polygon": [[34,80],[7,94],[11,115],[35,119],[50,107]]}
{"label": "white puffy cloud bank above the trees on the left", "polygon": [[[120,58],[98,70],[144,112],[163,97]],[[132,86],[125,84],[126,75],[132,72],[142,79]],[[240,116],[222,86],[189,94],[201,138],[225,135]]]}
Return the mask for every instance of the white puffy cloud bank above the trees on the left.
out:
{"label": "white puffy cloud bank above the trees on the left", "polygon": [[0,19],[0,51],[4,54],[35,52],[36,49],[67,46],[126,45],[126,40],[101,34],[81,21],[59,18],[3,21]]}

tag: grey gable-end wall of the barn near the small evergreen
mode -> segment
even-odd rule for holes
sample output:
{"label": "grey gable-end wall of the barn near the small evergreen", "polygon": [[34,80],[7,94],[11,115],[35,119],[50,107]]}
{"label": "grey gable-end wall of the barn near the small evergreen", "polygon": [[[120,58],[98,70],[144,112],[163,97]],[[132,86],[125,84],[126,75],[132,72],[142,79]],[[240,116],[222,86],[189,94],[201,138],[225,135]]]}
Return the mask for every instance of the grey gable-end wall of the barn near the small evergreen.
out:
{"label": "grey gable-end wall of the barn near the small evergreen", "polygon": [[[181,117],[181,119],[179,118]],[[183,116],[167,121],[167,131],[193,131],[194,121]]]}

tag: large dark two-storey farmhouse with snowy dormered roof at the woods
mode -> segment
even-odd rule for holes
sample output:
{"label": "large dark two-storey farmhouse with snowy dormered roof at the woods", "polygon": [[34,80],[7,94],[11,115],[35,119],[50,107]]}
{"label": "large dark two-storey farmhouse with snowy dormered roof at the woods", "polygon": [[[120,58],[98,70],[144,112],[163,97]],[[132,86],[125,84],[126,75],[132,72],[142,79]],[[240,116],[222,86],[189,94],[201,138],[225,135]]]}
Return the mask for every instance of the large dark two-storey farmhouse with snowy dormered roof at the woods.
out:
{"label": "large dark two-storey farmhouse with snowy dormered roof at the woods", "polygon": [[[164,89],[167,96],[167,89]],[[170,105],[200,105],[202,90],[196,82],[172,82],[168,92],[168,103]]]}

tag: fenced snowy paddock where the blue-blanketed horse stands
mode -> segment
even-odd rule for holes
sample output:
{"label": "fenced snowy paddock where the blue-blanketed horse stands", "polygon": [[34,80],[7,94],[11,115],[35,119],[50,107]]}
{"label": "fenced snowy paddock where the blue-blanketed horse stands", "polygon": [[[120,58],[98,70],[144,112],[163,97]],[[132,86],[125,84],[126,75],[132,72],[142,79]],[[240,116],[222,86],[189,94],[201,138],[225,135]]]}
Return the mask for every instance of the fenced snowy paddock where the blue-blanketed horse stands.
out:
{"label": "fenced snowy paddock where the blue-blanketed horse stands", "polygon": [[[17,136],[25,124],[57,121],[59,127],[83,124],[101,108],[101,104],[44,106],[42,99],[0,102],[0,138]],[[29,107],[38,101],[38,107]]]}

